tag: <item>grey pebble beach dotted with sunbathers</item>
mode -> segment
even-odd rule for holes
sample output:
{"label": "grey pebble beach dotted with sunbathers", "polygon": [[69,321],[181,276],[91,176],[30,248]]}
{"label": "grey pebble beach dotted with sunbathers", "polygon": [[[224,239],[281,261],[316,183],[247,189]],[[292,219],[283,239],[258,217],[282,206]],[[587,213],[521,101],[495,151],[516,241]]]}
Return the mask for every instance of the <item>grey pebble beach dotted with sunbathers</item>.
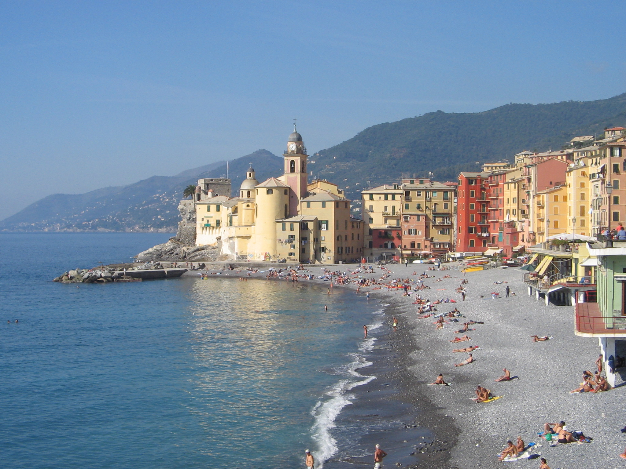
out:
{"label": "grey pebble beach dotted with sunbathers", "polygon": [[[277,266],[282,267],[282,266]],[[427,265],[411,264],[387,265],[393,278],[412,278],[428,269]],[[331,266],[331,270],[350,273],[357,265]],[[322,268],[305,266],[299,273],[319,276]],[[374,269],[374,274],[367,278],[379,278],[382,270]],[[594,361],[598,356],[597,340],[575,336],[573,333],[573,310],[571,306],[545,306],[534,297],[526,295],[526,286],[522,283],[522,273],[518,268],[494,269],[463,274],[457,270],[428,271],[434,278],[424,280],[430,288],[420,291],[422,296],[434,301],[438,298],[452,298],[457,303],[437,305],[438,313],[447,312],[457,307],[466,319],[458,323],[446,324],[443,330],[435,330],[432,318],[418,319],[417,305],[413,305],[414,293],[403,296],[403,291],[370,290],[361,287],[359,295],[370,291],[372,300],[381,299],[389,303],[387,307],[388,326],[384,333],[398,336],[403,347],[396,347],[399,354],[406,353],[409,363],[403,374],[403,386],[411,387],[408,395],[414,396],[416,422],[429,426],[439,419],[440,424],[449,423],[448,428],[438,425],[434,433],[440,438],[454,440],[456,445],[449,450],[449,461],[441,458],[432,464],[423,461],[416,467],[456,467],[456,468],[497,468],[516,466],[535,468],[538,458],[500,462],[499,453],[506,446],[506,440],[515,441],[521,436],[526,444],[537,445],[532,455],[540,454],[553,468],[577,468],[602,466],[605,469],[623,466],[618,456],[626,446],[626,436],[620,428],[626,425],[623,389],[615,388],[605,393],[583,393],[570,395],[569,391],[577,388],[583,370],[595,370]],[[242,276],[235,271],[222,271],[225,276]],[[265,273],[252,277],[265,278]],[[359,275],[363,275],[362,273]],[[444,275],[451,278],[436,282]],[[466,301],[456,293],[456,287],[466,278]],[[302,280],[300,280],[302,281]],[[309,281],[309,280],[307,280]],[[329,285],[329,282],[310,280],[314,283]],[[496,285],[496,281],[506,283]],[[514,295],[504,298],[505,288],[509,286]],[[334,285],[334,288],[350,288],[356,285]],[[491,293],[500,293],[500,298],[492,299]],[[332,295],[332,293],[331,293]],[[399,329],[394,332],[391,317],[399,319]],[[450,343],[454,331],[461,328],[465,320],[482,321],[484,324],[470,326],[469,342]],[[382,331],[376,331],[377,336]],[[461,334],[456,334],[460,336]],[[552,336],[543,342],[533,342],[531,335]],[[454,348],[477,345],[474,363],[455,367],[467,356],[466,353],[452,353]],[[401,365],[398,365],[401,366]],[[502,375],[502,369],[511,370],[511,376],[519,380],[496,383]],[[439,373],[452,386],[428,386]],[[489,403],[475,403],[474,390],[477,385],[489,388],[493,395],[502,396]],[[429,402],[425,402],[426,398]],[[545,422],[564,420],[568,431],[583,431],[593,438],[592,443],[568,443],[550,446],[548,441],[537,436],[543,431]],[[441,433],[441,435],[439,435]],[[415,442],[408,442],[407,451]],[[418,448],[419,451],[419,448]],[[428,455],[426,455],[428,456]],[[387,458],[387,465],[393,463],[394,455]],[[587,461],[586,463],[583,461]],[[426,465],[424,465],[426,464]],[[329,467],[332,464],[328,464]]]}

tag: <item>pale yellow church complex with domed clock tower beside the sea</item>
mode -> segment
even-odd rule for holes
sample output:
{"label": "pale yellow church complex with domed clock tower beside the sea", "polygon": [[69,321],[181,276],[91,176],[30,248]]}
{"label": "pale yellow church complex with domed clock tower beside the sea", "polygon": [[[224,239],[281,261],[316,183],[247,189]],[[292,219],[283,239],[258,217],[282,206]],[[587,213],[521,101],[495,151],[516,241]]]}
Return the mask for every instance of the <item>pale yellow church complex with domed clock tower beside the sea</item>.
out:
{"label": "pale yellow church complex with domed clock tower beside the sea", "polygon": [[236,196],[231,196],[228,179],[198,181],[196,245],[218,246],[220,260],[360,260],[363,222],[352,216],[350,201],[337,184],[309,183],[307,151],[295,125],[283,156],[282,176],[259,183],[250,167]]}

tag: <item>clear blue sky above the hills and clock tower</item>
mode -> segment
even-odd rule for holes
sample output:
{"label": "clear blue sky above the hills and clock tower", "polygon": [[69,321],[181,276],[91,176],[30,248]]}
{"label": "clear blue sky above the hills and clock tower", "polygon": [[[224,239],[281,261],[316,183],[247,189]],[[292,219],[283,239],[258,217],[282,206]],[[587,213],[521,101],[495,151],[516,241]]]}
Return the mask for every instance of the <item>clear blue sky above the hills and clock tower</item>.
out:
{"label": "clear blue sky above the hills and clock tower", "polygon": [[0,219],[441,109],[626,91],[606,1],[0,3]]}

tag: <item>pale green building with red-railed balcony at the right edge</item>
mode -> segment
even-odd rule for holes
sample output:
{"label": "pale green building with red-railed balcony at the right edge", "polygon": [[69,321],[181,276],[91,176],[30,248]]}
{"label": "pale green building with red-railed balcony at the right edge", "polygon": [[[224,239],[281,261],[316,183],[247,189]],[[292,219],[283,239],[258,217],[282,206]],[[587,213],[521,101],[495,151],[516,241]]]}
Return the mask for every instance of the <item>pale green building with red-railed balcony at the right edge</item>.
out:
{"label": "pale green building with red-railed balcony at the right edge", "polygon": [[597,295],[575,295],[575,334],[598,338],[607,381],[615,386],[626,381],[616,370],[626,357],[626,241],[590,243],[588,251],[600,270]]}

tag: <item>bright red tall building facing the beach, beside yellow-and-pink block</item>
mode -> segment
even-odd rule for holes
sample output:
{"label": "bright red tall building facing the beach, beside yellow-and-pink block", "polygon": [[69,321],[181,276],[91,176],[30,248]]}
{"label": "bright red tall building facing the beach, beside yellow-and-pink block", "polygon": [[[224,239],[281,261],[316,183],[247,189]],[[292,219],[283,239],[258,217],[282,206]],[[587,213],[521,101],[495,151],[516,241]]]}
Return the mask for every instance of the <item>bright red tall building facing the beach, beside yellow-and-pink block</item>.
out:
{"label": "bright red tall building facing the beach, beside yellow-and-pink block", "polygon": [[490,242],[488,214],[488,175],[486,173],[459,174],[456,204],[456,251],[481,252]]}

